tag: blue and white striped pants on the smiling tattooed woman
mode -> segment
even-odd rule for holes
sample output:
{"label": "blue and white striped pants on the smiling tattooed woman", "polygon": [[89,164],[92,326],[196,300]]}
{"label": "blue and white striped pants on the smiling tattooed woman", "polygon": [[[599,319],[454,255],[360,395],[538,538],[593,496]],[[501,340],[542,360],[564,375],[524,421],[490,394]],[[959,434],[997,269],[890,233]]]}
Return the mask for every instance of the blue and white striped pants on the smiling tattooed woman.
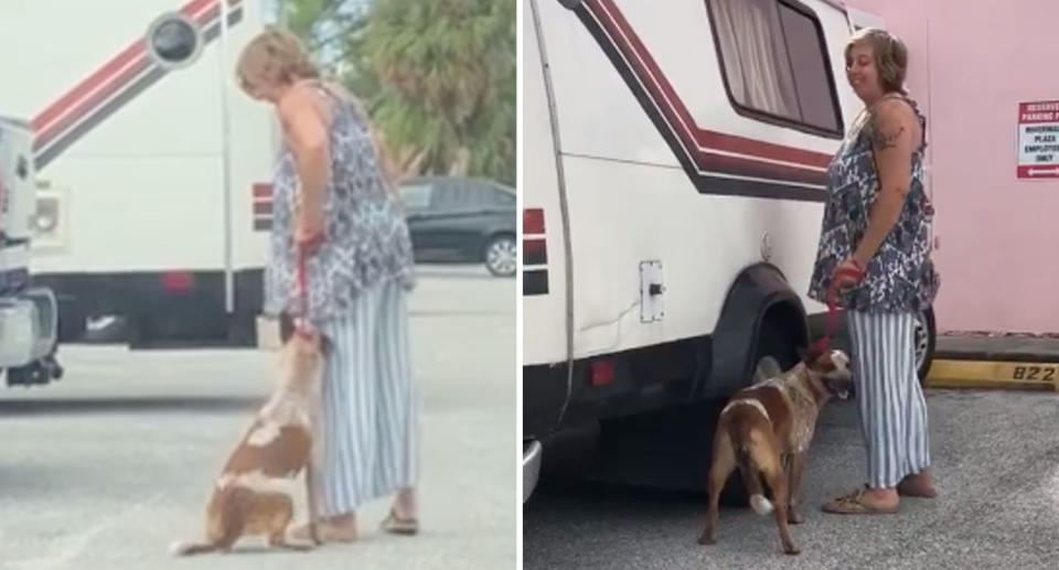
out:
{"label": "blue and white striped pants on the smiling tattooed woman", "polygon": [[930,466],[927,400],[916,369],[912,313],[846,311],[868,484],[890,488]]}

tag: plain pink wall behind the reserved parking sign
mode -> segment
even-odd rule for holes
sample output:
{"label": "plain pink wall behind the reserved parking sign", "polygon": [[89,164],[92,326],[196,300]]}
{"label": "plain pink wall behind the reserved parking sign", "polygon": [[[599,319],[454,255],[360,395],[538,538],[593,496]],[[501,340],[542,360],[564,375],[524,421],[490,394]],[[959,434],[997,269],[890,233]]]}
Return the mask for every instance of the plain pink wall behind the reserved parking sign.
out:
{"label": "plain pink wall behind the reserved parking sign", "polygon": [[928,112],[940,330],[1059,332],[1059,181],[1015,178],[1018,104],[1059,99],[1059,2],[847,0],[910,52]]}

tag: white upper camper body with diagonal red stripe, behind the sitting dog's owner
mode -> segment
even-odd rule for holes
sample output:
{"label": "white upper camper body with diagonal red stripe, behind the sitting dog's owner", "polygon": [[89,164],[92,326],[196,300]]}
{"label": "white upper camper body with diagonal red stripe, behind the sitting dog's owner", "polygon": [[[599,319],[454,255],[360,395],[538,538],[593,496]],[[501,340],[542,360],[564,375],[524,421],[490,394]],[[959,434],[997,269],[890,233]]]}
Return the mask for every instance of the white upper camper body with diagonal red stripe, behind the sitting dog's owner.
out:
{"label": "white upper camper body with diagonal red stripe, behind the sitting dog's owner", "polygon": [[[35,272],[223,270],[228,223],[236,269],[260,267],[252,192],[269,176],[270,117],[238,93],[233,73],[237,50],[260,30],[260,2],[228,4],[224,68],[217,0],[120,0],[105,9],[38,0],[0,9],[10,15],[0,18],[0,73],[19,78],[6,103],[34,117],[41,194],[61,215],[60,227],[39,239]],[[137,44],[149,42],[160,17],[182,10],[207,36],[196,57],[164,71]],[[229,219],[222,96],[232,127]]]}

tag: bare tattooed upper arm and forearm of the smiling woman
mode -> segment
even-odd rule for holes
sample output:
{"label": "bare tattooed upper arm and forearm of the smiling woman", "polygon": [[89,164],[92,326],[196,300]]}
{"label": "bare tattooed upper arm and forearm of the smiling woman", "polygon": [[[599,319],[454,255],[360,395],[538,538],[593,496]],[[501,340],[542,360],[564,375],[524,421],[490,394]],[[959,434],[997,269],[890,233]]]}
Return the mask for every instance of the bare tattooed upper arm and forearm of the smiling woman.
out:
{"label": "bare tattooed upper arm and forearm of the smiling woman", "polygon": [[900,100],[884,100],[868,123],[871,149],[879,174],[879,193],[868,216],[868,228],[853,254],[866,267],[897,224],[912,176],[912,150],[919,123]]}

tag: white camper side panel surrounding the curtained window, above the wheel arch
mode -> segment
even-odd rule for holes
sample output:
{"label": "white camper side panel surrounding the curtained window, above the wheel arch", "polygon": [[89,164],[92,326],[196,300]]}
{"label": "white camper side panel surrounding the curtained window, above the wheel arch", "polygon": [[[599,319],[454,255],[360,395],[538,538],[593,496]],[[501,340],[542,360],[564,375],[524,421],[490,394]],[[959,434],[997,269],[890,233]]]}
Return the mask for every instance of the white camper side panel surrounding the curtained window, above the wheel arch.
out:
{"label": "white camper side panel surrounding the curtained window, above the wheel arch", "polygon": [[[844,33],[839,11],[805,6],[828,41]],[[803,292],[820,230],[821,178],[849,99],[839,98],[846,109],[834,133],[737,112],[702,0],[671,0],[664,10],[586,0],[575,11],[543,1],[541,11],[555,54],[569,197],[574,356],[709,334],[735,277],[762,259],[812,310]],[[836,53],[828,56],[841,79]],[[738,139],[735,151],[725,148],[730,138]],[[726,170],[746,148],[774,155],[749,161],[757,173]],[[744,194],[747,187],[758,195]],[[645,261],[661,265],[664,292],[653,306],[642,295]]]}

